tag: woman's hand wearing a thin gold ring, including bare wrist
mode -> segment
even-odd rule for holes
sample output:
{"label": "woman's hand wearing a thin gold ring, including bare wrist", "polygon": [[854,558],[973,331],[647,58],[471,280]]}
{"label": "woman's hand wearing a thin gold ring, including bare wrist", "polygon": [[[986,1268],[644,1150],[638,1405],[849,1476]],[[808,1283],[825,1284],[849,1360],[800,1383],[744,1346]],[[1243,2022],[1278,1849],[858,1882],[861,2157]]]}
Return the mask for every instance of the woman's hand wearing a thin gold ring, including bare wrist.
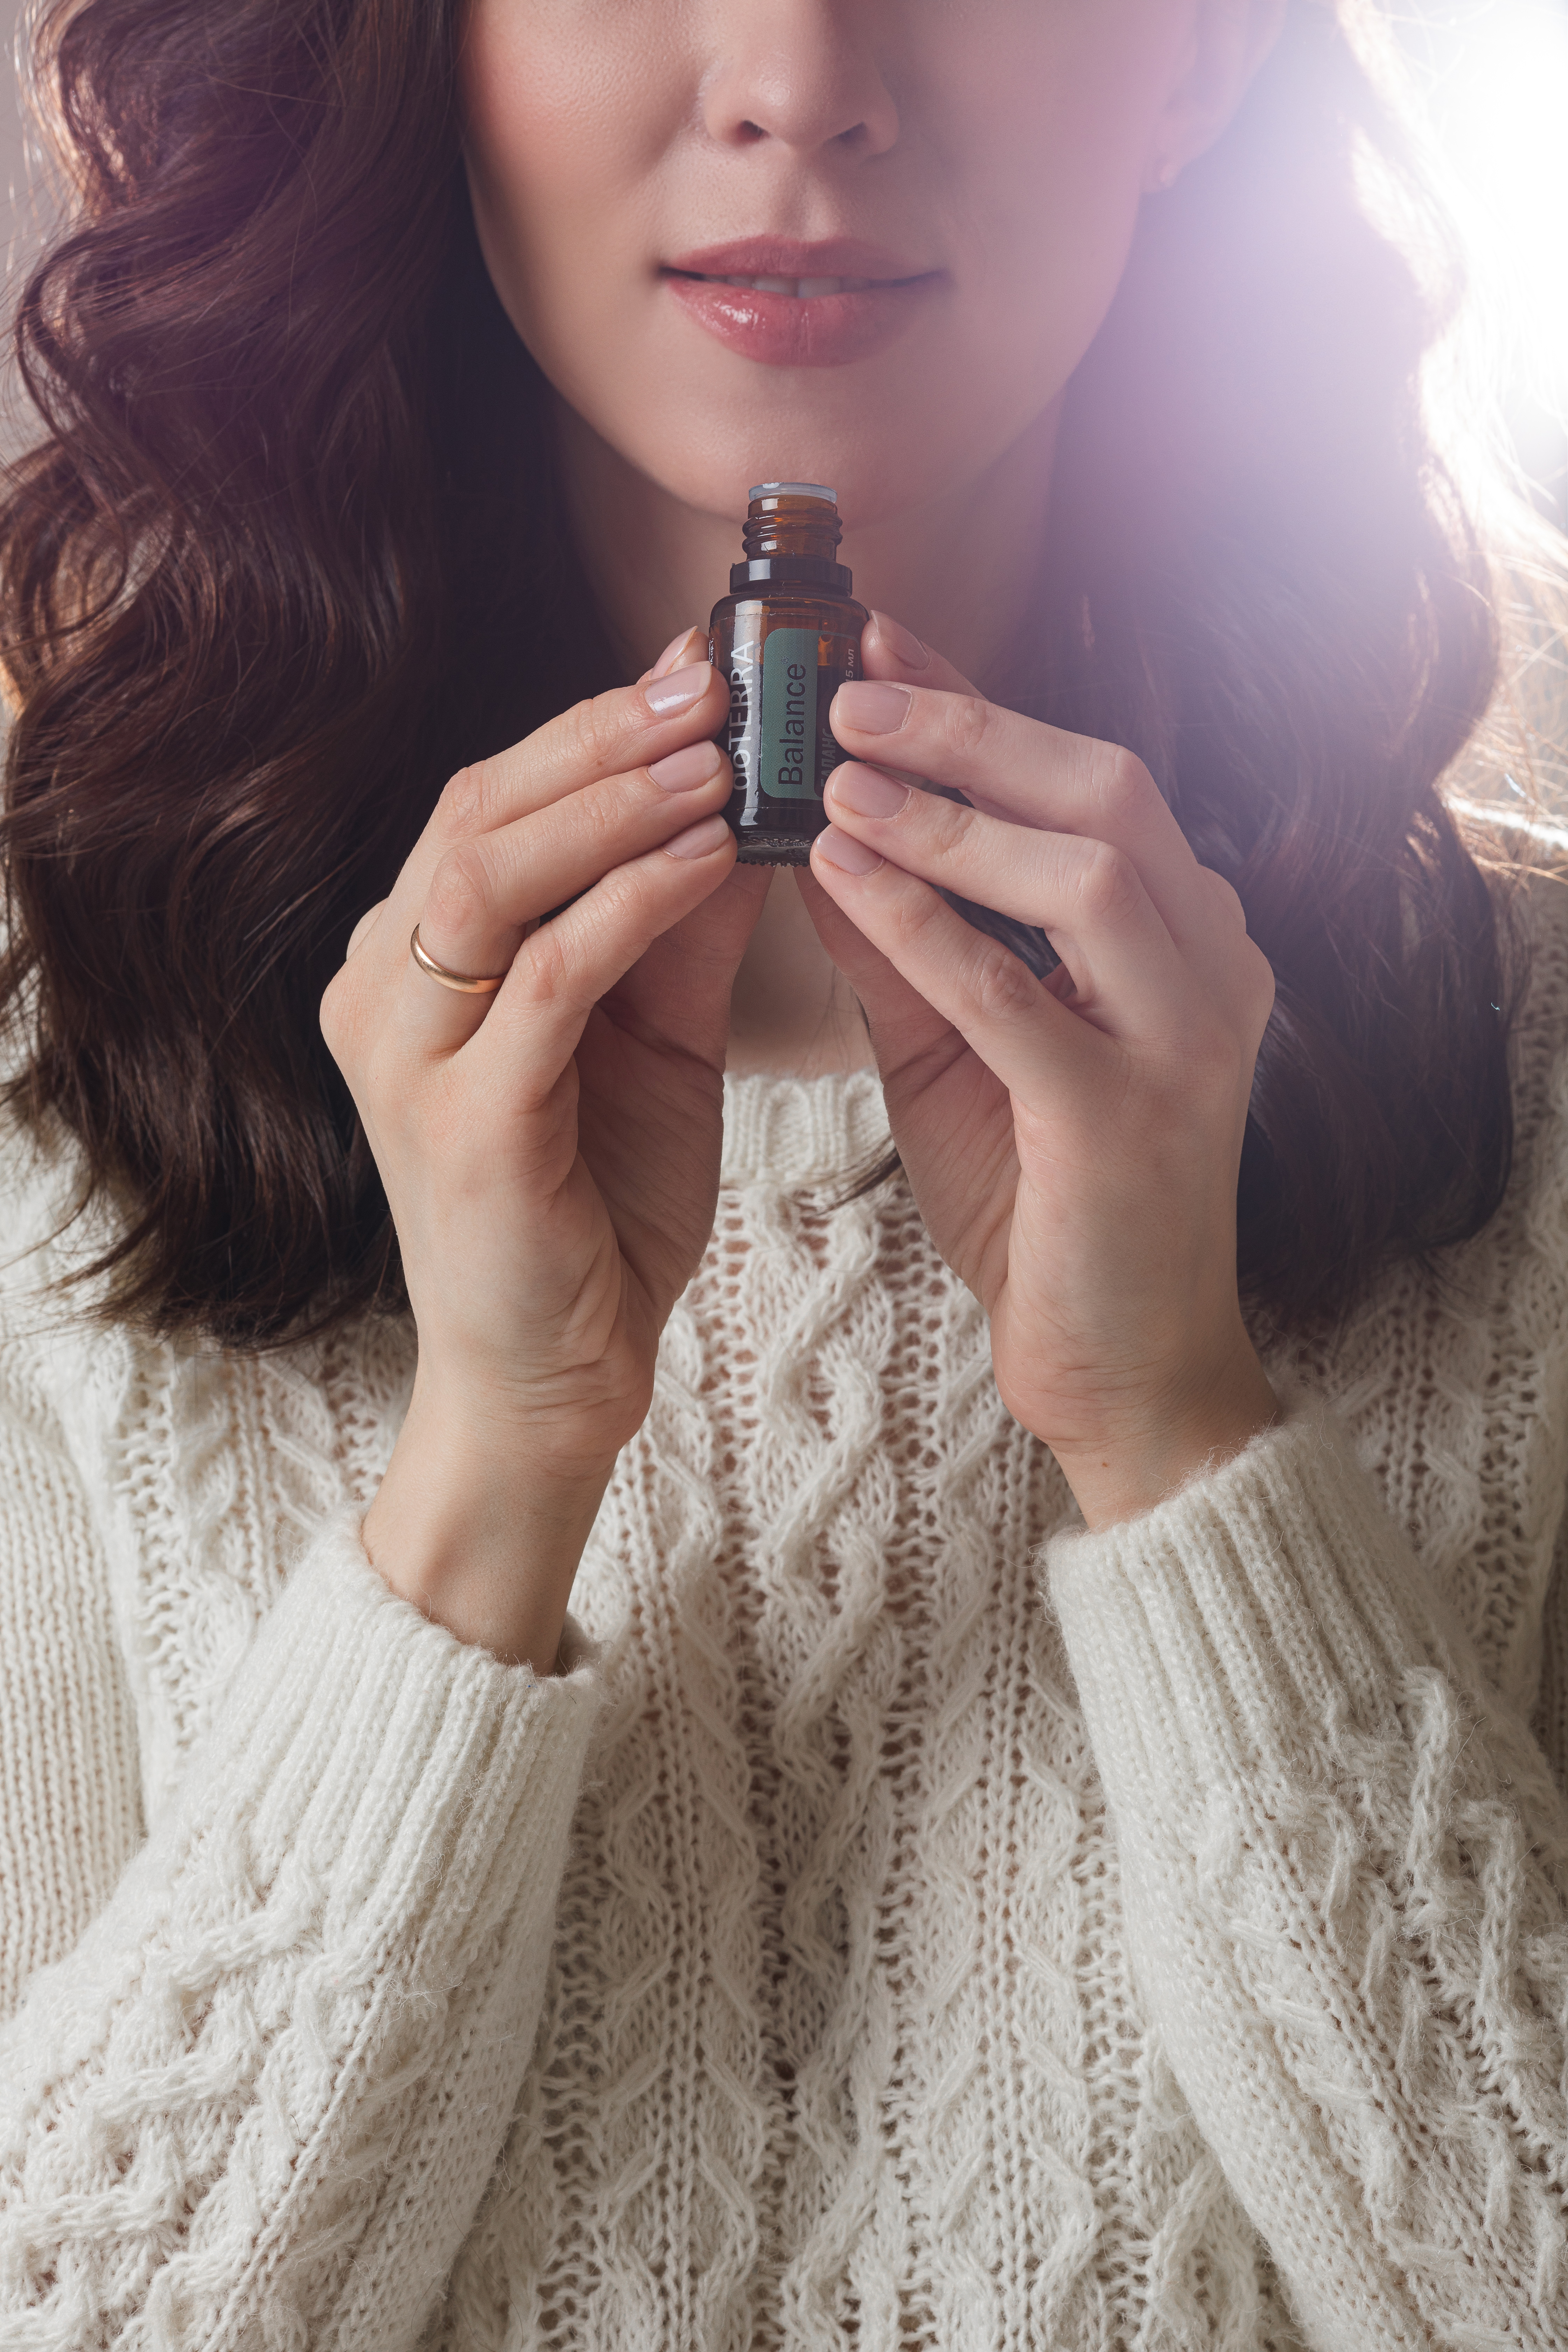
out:
{"label": "woman's hand wearing a thin gold ring, including bare wrist", "polygon": [[[703,652],[689,633],[454,776],[322,1000],[418,1327],[364,1541],[395,1590],[541,1670],[712,1230],[729,993],[769,880],[736,866]],[[433,981],[416,922],[501,988]]]}

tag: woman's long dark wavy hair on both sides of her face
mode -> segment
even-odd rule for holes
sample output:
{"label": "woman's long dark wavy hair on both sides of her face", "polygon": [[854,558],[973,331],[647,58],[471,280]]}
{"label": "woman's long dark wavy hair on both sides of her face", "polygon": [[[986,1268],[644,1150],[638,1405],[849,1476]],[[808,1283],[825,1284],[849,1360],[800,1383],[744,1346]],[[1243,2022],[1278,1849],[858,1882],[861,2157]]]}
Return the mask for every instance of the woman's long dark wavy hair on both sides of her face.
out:
{"label": "woman's long dark wavy hair on both sides of her face", "polygon": [[[103,1312],[230,1345],[402,1303],[322,988],[442,781],[616,682],[475,245],[454,28],[61,0],[35,33],[73,205],[0,506],[9,1101],[115,1209]],[[1239,1277],[1279,1331],[1509,1176],[1514,960],[1439,795],[1500,663],[1418,395],[1441,249],[1342,16],[1293,0],[1070,386],[1018,680],[1150,762],[1274,964]]]}

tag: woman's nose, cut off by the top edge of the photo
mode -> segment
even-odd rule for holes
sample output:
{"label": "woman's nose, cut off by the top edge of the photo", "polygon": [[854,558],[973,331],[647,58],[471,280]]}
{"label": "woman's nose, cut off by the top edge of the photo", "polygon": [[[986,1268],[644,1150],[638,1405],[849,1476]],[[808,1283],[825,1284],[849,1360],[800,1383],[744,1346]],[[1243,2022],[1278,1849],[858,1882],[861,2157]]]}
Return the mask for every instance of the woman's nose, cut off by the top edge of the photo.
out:
{"label": "woman's nose, cut off by the top edge of the photo", "polygon": [[722,146],[884,155],[898,108],[860,0],[722,0],[710,14],[703,125]]}

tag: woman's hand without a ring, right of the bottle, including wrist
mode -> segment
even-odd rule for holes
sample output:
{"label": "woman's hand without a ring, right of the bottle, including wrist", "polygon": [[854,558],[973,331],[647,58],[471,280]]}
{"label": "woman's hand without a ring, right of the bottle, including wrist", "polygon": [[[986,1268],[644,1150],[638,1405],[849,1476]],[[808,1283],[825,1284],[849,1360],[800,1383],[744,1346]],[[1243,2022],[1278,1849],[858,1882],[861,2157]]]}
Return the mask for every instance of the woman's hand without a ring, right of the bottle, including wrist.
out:
{"label": "woman's hand without a ring, right of the bottle, including wrist", "polygon": [[[938,656],[914,670],[898,637],[872,619],[872,682],[835,696],[851,757],[804,894],[926,1230],[990,1315],[1001,1399],[1107,1526],[1276,1411],[1237,1298],[1274,976],[1140,760],[983,701]],[[936,884],[1039,924],[1060,969],[1037,981]]]}

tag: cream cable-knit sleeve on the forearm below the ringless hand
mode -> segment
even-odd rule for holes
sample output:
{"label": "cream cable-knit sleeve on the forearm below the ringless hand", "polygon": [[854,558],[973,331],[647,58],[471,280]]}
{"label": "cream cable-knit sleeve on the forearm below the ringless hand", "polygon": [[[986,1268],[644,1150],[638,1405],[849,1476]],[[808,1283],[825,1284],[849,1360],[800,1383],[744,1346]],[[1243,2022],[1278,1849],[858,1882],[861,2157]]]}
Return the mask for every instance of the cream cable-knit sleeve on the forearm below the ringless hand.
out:
{"label": "cream cable-knit sleeve on the forearm below the ringless hand", "polygon": [[1140,1990],[1312,2343],[1556,2345],[1568,1811],[1295,1409],[1051,1592]]}

